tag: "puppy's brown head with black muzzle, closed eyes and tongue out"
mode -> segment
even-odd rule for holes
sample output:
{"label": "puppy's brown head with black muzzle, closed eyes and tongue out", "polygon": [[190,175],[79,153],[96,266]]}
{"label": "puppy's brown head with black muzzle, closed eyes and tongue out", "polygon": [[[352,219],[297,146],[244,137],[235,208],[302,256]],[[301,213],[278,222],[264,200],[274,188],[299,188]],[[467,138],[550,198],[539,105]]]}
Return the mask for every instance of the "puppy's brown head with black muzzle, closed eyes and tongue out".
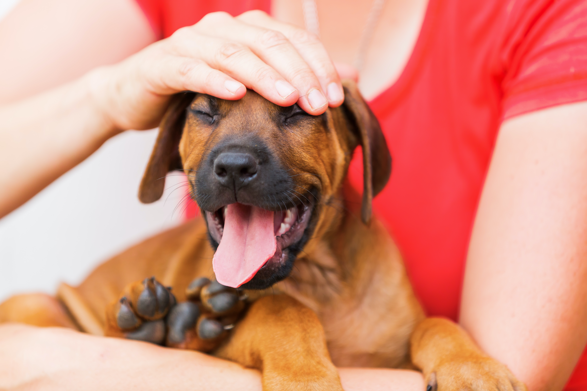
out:
{"label": "puppy's brown head with black muzzle, closed eyes and tongue out", "polygon": [[389,179],[391,158],[373,113],[353,82],[345,103],[313,116],[280,107],[254,91],[237,101],[181,93],[171,101],[141,182],[139,198],[161,197],[163,178],[183,169],[191,198],[217,251],[217,280],[264,289],[284,279],[312,236],[322,237],[336,209],[352,152],[363,148],[362,220]]}

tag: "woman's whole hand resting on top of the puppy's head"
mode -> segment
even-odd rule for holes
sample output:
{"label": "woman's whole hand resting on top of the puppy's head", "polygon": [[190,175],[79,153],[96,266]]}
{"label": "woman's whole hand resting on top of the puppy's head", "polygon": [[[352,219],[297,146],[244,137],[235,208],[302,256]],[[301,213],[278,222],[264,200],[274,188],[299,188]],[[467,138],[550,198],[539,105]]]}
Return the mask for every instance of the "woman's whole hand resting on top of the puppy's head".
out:
{"label": "woman's whole hand resting on top of the puppy's head", "polygon": [[155,127],[168,96],[183,90],[235,100],[248,88],[279,106],[297,102],[310,114],[344,98],[318,38],[262,11],[209,13],[89,78],[92,96],[118,130]]}

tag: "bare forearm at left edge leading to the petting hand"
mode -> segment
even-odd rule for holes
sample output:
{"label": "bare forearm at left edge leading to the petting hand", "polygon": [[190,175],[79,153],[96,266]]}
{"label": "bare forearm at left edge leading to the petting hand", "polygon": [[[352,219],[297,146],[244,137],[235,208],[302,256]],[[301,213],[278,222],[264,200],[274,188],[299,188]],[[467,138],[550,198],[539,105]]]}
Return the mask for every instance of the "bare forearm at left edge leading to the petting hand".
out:
{"label": "bare forearm at left edge leading to the petting hand", "polygon": [[[0,107],[0,217],[91,155],[116,127],[97,107],[90,77]],[[10,191],[6,191],[10,189]]]}

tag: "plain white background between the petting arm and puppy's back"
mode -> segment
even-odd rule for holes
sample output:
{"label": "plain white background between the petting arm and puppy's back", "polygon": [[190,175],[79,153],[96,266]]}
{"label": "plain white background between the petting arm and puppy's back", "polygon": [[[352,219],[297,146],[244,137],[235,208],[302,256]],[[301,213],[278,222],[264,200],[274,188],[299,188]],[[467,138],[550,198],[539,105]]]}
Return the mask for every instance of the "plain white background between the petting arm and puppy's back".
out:
{"label": "plain white background between the petting arm and puppy's back", "polygon": [[[0,19],[16,2],[0,0]],[[150,130],[112,138],[0,219],[0,301],[15,293],[54,293],[60,281],[78,284],[101,261],[183,220],[184,204],[176,209],[185,195],[179,172],[170,173],[179,176],[167,178],[158,202],[137,199],[155,137]]]}

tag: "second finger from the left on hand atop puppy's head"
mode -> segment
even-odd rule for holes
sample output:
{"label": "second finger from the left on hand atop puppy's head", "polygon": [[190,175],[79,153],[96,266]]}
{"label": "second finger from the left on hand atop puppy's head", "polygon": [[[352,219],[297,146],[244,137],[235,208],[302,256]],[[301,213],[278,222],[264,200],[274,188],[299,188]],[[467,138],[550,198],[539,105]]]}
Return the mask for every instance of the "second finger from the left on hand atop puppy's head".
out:
{"label": "second finger from the left on hand atop puppy's head", "polygon": [[195,28],[177,30],[172,38],[173,52],[177,55],[203,60],[279,106],[291,106],[298,100],[299,93],[294,86],[236,40],[205,35]]}

